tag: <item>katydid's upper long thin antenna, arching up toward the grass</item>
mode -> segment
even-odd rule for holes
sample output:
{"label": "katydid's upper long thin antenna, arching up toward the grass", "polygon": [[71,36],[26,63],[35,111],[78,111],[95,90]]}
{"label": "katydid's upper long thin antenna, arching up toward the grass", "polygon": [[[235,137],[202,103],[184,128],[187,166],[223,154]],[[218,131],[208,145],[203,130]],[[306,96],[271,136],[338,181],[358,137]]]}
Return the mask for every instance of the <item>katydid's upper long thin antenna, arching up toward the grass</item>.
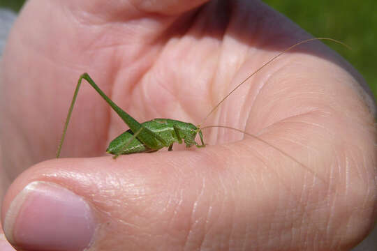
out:
{"label": "katydid's upper long thin antenna, arching up toward the grass", "polygon": [[339,44],[347,47],[348,49],[352,50],[351,47],[349,47],[345,43],[343,43],[343,42],[341,42],[339,40],[335,40],[333,38],[309,38],[309,39],[306,39],[306,40],[302,40],[301,42],[296,43],[295,45],[292,45],[292,46],[288,47],[286,50],[283,50],[283,52],[280,52],[279,54],[277,54],[276,56],[274,56],[272,59],[269,59],[269,61],[267,61],[266,63],[264,63],[263,66],[260,66],[260,68],[258,68],[255,72],[251,73],[251,75],[249,75],[248,77],[246,77],[246,79],[244,79],[244,81],[242,81],[237,86],[235,86],[235,89],[232,89],[232,91],[230,91],[230,93],[228,93],[219,103],[217,103],[217,105],[215,105],[214,108],[212,108],[211,112],[209,112],[207,114],[207,116],[205,116],[205,118],[203,119],[202,123],[200,123],[197,127],[200,128],[200,126],[202,126],[202,124],[205,123],[205,121],[208,119],[209,115],[211,115],[219,107],[219,105],[221,105],[221,103],[224,102],[226,100],[226,98],[228,98],[230,96],[230,94],[232,94],[233,92],[235,92],[235,90],[237,90],[239,88],[239,86],[242,86],[242,84],[244,84],[247,80],[249,80],[251,77],[253,77],[253,75],[256,75],[256,73],[258,73],[260,70],[262,70],[263,68],[265,68],[265,66],[269,65],[269,63],[272,63],[272,61],[274,61],[275,59],[277,59],[282,54],[284,54],[284,53],[292,50],[294,47],[296,47],[298,45],[301,45],[303,43],[308,43],[308,42],[313,41],[313,40],[330,40],[330,41],[332,41],[334,43],[339,43]]}

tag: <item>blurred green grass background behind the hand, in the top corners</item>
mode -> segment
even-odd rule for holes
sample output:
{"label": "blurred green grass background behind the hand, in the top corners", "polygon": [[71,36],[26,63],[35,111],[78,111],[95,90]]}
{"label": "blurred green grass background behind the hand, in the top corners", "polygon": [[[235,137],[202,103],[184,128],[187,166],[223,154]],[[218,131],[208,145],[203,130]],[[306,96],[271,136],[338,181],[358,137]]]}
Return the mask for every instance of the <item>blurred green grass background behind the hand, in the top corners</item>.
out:
{"label": "blurred green grass background behind the hand, in the top corners", "polygon": [[[0,7],[20,10],[24,0],[0,0]],[[377,97],[376,63],[377,10],[376,0],[281,1],[265,0],[315,37],[330,37],[350,45],[352,51],[327,43],[362,73]]]}

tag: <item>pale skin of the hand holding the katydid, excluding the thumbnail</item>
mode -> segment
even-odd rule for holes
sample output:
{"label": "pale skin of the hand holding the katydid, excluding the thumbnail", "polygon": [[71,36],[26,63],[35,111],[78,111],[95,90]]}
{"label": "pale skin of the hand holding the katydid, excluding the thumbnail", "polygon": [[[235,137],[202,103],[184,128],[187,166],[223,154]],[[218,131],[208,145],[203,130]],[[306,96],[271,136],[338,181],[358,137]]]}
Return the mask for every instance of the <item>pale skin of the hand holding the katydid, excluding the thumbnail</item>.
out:
{"label": "pale skin of the hand holding the katydid, excluding the thumbnail", "polygon": [[294,159],[213,129],[202,149],[113,160],[103,155],[124,123],[82,86],[62,158],[49,160],[81,73],[138,121],[198,124],[253,70],[309,38],[258,1],[204,2],[29,1],[1,65],[2,221],[25,185],[49,181],[112,223],[93,250],[348,250],[368,234],[374,103],[362,77],[318,42],[283,55],[206,121]]}

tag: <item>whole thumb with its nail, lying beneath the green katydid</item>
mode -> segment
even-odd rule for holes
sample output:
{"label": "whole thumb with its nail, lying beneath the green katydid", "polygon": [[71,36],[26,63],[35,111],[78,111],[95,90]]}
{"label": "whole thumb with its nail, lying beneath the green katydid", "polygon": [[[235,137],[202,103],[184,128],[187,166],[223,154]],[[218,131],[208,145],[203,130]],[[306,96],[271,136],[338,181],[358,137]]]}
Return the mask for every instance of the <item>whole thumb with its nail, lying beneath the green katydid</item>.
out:
{"label": "whole thumb with its nail, lying beneath the green katydid", "polygon": [[[371,181],[348,192],[334,180],[329,189],[319,174],[244,143],[41,162],[10,186],[4,232],[20,250],[50,251],[304,250],[318,236],[321,248],[346,249],[366,233]],[[351,204],[360,213],[343,210]],[[330,217],[329,227],[321,219]]]}

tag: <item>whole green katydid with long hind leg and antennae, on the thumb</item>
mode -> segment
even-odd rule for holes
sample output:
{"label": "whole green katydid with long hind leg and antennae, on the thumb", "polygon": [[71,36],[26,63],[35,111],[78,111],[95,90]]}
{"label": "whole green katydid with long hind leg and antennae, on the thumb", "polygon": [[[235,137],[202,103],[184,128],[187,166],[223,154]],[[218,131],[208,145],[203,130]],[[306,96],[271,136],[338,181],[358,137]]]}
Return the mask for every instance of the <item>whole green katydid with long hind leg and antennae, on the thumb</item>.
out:
{"label": "whole green katydid with long hind leg and antennae, on the thumb", "polygon": [[[80,85],[82,83],[82,79],[85,79],[101,96],[102,98],[108,102],[108,104],[114,109],[115,112],[121,117],[121,119],[124,121],[124,123],[127,124],[127,126],[130,128],[129,130],[126,130],[121,135],[116,137],[115,139],[110,142],[110,145],[107,149],[107,153],[113,154],[114,158],[117,158],[117,156],[121,154],[131,154],[131,153],[142,153],[142,152],[154,152],[158,151],[159,149],[162,149],[163,147],[168,147],[168,150],[172,150],[172,146],[174,143],[182,144],[183,142],[186,144],[186,147],[191,147],[193,145],[197,147],[204,147],[205,143],[203,141],[203,135],[202,135],[202,129],[201,125],[206,121],[206,119],[209,117],[210,114],[212,114],[221,103],[230,96],[236,89],[239,88],[242,84],[244,84],[247,80],[249,80],[253,75],[256,75],[262,68],[265,68],[269,63],[272,63],[275,59],[277,59],[282,54],[292,50],[294,47],[297,47],[297,45],[301,45],[302,43],[307,43],[311,40],[331,40],[335,43],[340,43],[341,45],[345,45],[344,43],[341,43],[337,40],[334,40],[332,38],[310,38],[307,40],[303,40],[300,43],[296,43],[295,45],[292,45],[288,47],[286,50],[283,50],[283,52],[280,52],[276,56],[274,56],[272,59],[269,59],[266,63],[263,64],[263,66],[260,66],[255,72],[251,73],[246,79],[244,79],[240,84],[238,84],[228,95],[226,95],[214,108],[205,116],[205,119],[200,123],[198,126],[194,126],[192,123],[186,123],[183,121],[177,121],[173,119],[153,119],[151,121],[146,121],[143,123],[139,123],[131,115],[124,112],[123,109],[118,107],[108,96],[101,91],[101,89],[96,85],[96,83],[91,79],[91,77],[84,73],[80,76],[80,79],[77,82],[77,86],[75,89],[75,93],[73,95],[73,99],[71,102],[71,107],[68,110],[68,116],[66,118],[66,123],[64,124],[64,130],[63,135],[61,137],[61,141],[57,150],[57,158],[59,158],[60,152],[61,152],[61,146],[64,142],[64,137],[66,135],[66,131],[68,128],[68,123],[71,119],[71,114],[73,111],[73,106],[75,105],[75,100],[77,98],[77,93],[80,89]],[[207,126],[205,128],[211,128],[211,127],[222,127],[222,128],[229,128],[232,130],[238,130],[235,128],[230,128],[228,126]],[[238,130],[239,132],[242,132],[246,135],[249,135],[251,137],[256,137],[253,135],[250,135],[247,132],[244,132],[242,130]],[[198,144],[195,142],[196,135],[199,135],[201,144]],[[258,137],[256,137],[259,139]],[[259,139],[261,140],[261,139]],[[264,142],[264,141],[263,141]],[[265,142],[266,144],[269,144]],[[271,144],[269,144],[271,146]],[[272,146],[274,147],[274,146]],[[274,147],[277,149],[276,147]],[[279,150],[281,153],[283,151]],[[284,153],[284,155],[287,155]]]}

